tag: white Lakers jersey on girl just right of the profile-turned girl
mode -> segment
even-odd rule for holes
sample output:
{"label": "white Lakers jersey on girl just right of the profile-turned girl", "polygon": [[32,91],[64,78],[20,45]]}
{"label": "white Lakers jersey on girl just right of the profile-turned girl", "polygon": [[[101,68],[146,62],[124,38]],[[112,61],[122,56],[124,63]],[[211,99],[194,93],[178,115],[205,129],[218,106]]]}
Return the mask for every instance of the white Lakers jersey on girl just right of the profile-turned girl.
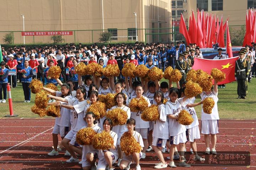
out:
{"label": "white Lakers jersey on girl just right of the profile-turned girl", "polygon": [[[182,104],[184,102],[183,98],[179,98],[175,101],[175,103],[172,103],[171,101],[167,101],[165,104],[165,110],[166,110],[166,114],[172,114],[175,116],[178,116],[178,114],[181,112],[182,108]],[[186,127],[180,123],[178,123],[177,119],[170,119],[168,118],[168,122],[169,122],[169,135],[170,136],[176,136],[178,134],[181,134],[183,132],[186,131]]]}

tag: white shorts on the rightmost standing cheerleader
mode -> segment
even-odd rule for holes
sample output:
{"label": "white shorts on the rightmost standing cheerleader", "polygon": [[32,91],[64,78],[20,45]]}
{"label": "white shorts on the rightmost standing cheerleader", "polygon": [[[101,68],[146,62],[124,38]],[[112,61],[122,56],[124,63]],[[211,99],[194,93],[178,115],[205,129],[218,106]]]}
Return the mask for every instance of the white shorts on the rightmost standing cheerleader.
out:
{"label": "white shorts on the rightmost standing cheerleader", "polygon": [[201,133],[218,134],[219,133],[219,121],[218,120],[201,120]]}

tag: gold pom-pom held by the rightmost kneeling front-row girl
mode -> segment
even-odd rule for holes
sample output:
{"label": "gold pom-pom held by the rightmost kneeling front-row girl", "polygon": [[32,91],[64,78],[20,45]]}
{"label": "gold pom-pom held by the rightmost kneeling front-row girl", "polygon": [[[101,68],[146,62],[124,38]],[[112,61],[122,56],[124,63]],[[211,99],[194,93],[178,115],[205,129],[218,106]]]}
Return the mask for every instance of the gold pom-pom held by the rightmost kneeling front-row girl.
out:
{"label": "gold pom-pom held by the rightmost kneeling front-row girl", "polygon": [[139,142],[137,142],[136,139],[133,137],[133,135],[130,134],[129,132],[124,132],[124,134],[120,138],[120,147],[121,147],[121,150],[127,156],[133,153],[140,153],[141,151]]}

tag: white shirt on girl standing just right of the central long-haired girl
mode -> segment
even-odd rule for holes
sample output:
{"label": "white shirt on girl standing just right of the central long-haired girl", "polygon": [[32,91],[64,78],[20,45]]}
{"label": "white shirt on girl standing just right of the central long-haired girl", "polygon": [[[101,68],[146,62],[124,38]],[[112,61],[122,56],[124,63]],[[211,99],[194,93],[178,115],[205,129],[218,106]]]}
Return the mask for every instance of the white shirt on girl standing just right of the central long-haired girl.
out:
{"label": "white shirt on girl standing just right of the central long-haired girl", "polygon": [[[145,100],[148,102],[148,107],[151,106],[149,99],[145,96],[142,96],[142,97],[144,97]],[[136,121],[136,129],[149,128],[149,122],[142,120],[141,114],[142,114],[142,111],[131,112],[131,118],[133,118]]]}

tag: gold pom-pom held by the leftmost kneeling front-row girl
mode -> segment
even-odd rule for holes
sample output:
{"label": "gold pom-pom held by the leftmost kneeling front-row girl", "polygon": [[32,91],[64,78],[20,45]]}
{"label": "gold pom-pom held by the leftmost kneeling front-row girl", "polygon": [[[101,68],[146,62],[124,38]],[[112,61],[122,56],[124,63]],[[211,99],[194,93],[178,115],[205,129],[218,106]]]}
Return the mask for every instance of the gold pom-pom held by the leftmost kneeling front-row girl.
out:
{"label": "gold pom-pom held by the leftmost kneeling front-row girl", "polygon": [[80,145],[92,145],[94,136],[97,133],[92,128],[83,128],[76,133],[76,142]]}

